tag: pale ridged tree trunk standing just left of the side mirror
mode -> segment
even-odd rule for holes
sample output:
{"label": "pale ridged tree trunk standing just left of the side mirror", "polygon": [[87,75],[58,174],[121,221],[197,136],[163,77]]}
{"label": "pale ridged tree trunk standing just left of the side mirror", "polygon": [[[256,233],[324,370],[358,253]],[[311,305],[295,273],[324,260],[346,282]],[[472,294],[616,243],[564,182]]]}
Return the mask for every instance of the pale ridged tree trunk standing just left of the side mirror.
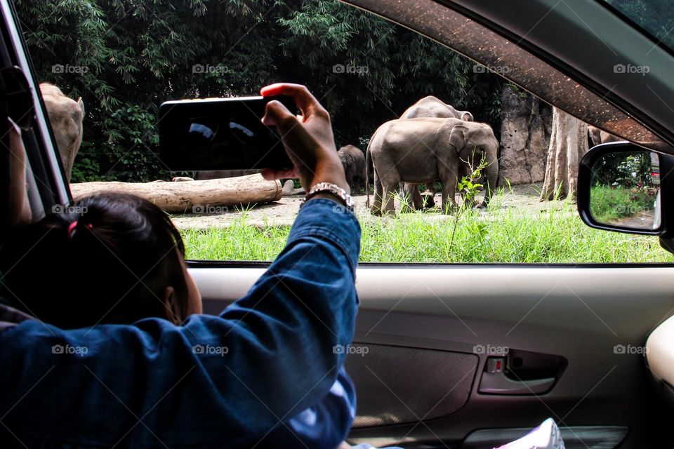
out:
{"label": "pale ridged tree trunk standing just left of the side mirror", "polygon": [[587,123],[553,107],[553,133],[550,135],[541,201],[567,196],[576,199],[578,167],[587,151]]}

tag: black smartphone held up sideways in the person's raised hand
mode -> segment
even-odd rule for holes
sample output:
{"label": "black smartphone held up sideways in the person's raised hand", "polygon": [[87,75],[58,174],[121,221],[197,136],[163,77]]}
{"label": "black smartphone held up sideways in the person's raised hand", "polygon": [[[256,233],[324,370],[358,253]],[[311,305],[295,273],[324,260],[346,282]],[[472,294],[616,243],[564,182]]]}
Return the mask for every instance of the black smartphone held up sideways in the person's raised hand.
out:
{"label": "black smartphone held up sideways in the person's raised hand", "polygon": [[159,107],[159,159],[173,171],[292,168],[275,128],[260,119],[267,103],[291,97],[207,98],[167,101]]}

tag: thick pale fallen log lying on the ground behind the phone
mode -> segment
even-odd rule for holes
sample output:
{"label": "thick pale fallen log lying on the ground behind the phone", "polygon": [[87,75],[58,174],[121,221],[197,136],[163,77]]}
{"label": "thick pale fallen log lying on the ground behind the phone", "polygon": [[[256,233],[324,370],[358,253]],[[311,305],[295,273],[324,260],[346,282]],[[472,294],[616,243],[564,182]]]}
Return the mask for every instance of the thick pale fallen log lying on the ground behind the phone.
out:
{"label": "thick pale fallen log lying on the ground behind the phone", "polygon": [[199,213],[218,206],[246,206],[278,201],[281,182],[267,181],[262,175],[184,182],[81,182],[70,185],[73,199],[121,192],[145,198],[170,213]]}

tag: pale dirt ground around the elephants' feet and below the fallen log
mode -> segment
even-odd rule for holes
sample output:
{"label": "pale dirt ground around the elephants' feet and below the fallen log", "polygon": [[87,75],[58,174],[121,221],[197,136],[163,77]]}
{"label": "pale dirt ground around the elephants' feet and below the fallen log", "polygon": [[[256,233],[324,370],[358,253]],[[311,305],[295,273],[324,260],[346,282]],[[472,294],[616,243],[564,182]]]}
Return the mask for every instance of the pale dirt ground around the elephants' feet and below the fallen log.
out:
{"label": "pale dirt ground around the elephants' feet and below the fallen log", "polygon": [[[513,186],[512,192],[503,194],[501,208],[517,208],[526,213],[546,213],[550,208],[560,208],[560,203],[541,202],[538,197],[541,192],[541,184],[517,185]],[[300,207],[303,195],[284,196],[279,201],[268,204],[258,204],[251,206],[246,211],[240,208],[204,208],[206,213],[175,215],[173,222],[180,229],[206,229],[211,227],[227,227],[232,222],[240,220],[245,214],[247,225],[267,227],[267,226],[289,226],[293,224]],[[354,196],[356,203],[356,213],[361,221],[381,220],[369,213],[365,206],[366,196],[364,194]],[[458,198],[457,198],[458,199]],[[435,196],[435,203],[439,206],[441,203],[440,194]],[[498,200],[496,200],[498,204]],[[396,201],[396,210],[400,210],[400,204]],[[486,210],[481,213],[487,213]],[[447,216],[440,213],[440,208],[428,210],[425,214],[428,220],[447,220]]]}

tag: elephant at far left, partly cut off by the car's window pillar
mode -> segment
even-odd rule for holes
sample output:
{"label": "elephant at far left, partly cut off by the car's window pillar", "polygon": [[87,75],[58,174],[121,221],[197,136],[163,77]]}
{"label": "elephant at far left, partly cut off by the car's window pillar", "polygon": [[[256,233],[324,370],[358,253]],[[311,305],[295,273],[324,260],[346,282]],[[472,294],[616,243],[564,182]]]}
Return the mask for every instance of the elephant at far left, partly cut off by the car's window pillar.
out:
{"label": "elephant at far left, partly cut off by the car's window pillar", "polygon": [[70,181],[72,164],[79,152],[82,143],[84,128],[84,102],[81,98],[77,101],[64,95],[60,88],[50,83],[40,83],[42,100],[47,109],[47,115],[51,122],[58,154],[61,157],[65,177]]}

